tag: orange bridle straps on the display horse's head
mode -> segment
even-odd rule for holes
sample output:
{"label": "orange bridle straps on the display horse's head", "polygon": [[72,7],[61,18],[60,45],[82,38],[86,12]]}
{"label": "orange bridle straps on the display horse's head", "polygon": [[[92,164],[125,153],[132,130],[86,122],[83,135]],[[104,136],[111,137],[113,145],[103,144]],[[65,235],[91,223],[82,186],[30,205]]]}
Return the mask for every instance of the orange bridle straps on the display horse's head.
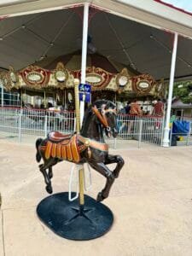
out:
{"label": "orange bridle straps on the display horse's head", "polygon": [[96,106],[92,107],[92,112],[96,114],[96,117],[100,120],[103,127],[107,129],[107,131],[111,131],[111,127],[108,125],[108,119],[106,118],[106,113],[114,113],[117,115],[116,108],[108,108],[105,109],[106,105],[102,105],[102,111],[100,113],[99,109]]}

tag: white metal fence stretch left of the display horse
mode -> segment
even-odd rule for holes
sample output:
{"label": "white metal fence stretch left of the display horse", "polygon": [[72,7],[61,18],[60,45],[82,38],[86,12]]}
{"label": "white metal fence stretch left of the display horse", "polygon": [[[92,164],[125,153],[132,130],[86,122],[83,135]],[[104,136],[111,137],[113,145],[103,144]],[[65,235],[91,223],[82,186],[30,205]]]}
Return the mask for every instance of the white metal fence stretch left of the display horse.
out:
{"label": "white metal fence stretch left of the display horse", "polygon": [[49,111],[28,108],[0,108],[0,131],[16,135],[44,136],[49,131],[72,133],[75,114],[68,111]]}

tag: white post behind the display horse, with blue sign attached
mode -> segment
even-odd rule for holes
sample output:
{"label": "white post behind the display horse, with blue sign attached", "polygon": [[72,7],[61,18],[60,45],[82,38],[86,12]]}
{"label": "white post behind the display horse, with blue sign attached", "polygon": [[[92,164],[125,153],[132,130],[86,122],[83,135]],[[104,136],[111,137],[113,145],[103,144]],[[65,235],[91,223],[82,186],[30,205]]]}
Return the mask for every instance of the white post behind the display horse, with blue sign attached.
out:
{"label": "white post behind the display horse, with blue sign attached", "polygon": [[[85,84],[86,78],[86,61],[87,61],[87,38],[88,38],[88,19],[89,3],[84,3],[84,27],[82,40],[82,57],[81,57],[81,84]],[[84,101],[80,102],[80,126],[84,118]]]}

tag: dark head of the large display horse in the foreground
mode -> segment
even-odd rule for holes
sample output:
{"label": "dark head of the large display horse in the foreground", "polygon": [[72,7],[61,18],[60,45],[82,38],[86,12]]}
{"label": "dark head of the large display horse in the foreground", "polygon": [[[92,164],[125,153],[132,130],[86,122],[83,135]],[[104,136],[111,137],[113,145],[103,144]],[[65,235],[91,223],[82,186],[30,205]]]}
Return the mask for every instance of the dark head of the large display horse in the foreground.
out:
{"label": "dark head of the large display horse in the foreground", "polygon": [[117,137],[117,110],[113,102],[99,100],[93,103],[92,112],[96,114],[97,119],[102,124],[108,137]]}

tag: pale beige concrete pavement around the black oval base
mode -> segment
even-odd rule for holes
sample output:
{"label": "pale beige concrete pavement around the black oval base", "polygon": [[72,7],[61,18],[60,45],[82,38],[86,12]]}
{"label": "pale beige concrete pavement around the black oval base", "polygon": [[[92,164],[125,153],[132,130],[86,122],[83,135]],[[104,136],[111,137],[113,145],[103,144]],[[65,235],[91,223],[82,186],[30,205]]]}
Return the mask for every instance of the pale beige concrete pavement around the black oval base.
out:
{"label": "pale beige concrete pavement around the black oval base", "polygon": [[[96,240],[68,241],[37,218],[38,202],[47,194],[34,147],[2,140],[0,255],[192,255],[192,147],[127,144],[118,154],[125,167],[104,201],[114,214],[112,229]],[[54,192],[67,191],[70,167],[55,166]],[[92,179],[88,194],[96,197],[105,180],[94,171]]]}

